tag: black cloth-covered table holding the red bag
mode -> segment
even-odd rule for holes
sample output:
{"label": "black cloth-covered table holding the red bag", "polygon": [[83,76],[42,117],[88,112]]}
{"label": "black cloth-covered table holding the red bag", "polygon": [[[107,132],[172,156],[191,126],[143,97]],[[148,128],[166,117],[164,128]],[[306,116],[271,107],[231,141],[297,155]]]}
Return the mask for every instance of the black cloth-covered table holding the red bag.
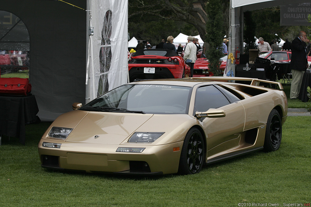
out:
{"label": "black cloth-covered table holding the red bag", "polygon": [[[0,136],[18,137],[25,145],[25,124],[35,121],[39,112],[34,95],[0,96]],[[1,138],[0,138],[1,144]]]}

